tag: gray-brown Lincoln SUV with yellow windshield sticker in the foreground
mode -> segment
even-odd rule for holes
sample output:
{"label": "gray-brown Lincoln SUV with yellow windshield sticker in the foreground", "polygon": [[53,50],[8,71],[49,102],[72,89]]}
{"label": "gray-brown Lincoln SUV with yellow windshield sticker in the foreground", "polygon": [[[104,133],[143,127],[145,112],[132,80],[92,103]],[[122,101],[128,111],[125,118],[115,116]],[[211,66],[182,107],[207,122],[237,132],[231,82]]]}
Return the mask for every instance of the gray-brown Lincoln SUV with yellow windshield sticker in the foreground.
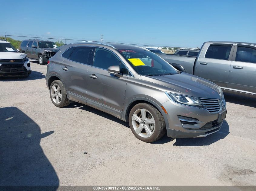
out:
{"label": "gray-brown Lincoln SUV with yellow windshield sticker in the foreground", "polygon": [[205,137],[226,117],[221,89],[179,72],[148,49],[123,44],[75,43],[49,59],[46,85],[52,103],[86,104],[129,122],[133,134],[153,142]]}

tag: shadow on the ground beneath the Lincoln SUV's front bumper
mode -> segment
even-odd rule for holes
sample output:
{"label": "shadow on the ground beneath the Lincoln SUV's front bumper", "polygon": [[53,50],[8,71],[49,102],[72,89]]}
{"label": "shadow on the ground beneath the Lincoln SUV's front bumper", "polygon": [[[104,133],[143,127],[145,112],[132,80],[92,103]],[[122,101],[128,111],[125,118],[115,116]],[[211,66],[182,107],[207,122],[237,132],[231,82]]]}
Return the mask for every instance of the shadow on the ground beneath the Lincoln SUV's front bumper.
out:
{"label": "shadow on the ground beneath the Lincoln SUV's front bumper", "polygon": [[[229,134],[229,125],[226,120],[223,121],[221,129],[208,135],[206,137],[201,138],[176,138],[174,142],[174,146],[203,146],[203,145],[211,145],[214,142],[217,142],[220,139],[224,139]],[[164,144],[172,141],[173,139],[165,136],[158,141],[152,142],[152,144]]]}

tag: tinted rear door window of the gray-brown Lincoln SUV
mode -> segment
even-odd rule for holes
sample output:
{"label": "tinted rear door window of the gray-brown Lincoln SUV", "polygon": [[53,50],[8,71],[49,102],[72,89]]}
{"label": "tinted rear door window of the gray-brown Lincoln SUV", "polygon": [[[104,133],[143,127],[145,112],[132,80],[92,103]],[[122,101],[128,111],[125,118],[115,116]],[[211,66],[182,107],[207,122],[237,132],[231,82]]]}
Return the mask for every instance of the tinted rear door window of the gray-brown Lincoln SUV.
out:
{"label": "tinted rear door window of the gray-brown Lincoln SUV", "polygon": [[88,57],[90,55],[90,47],[76,47],[70,55],[70,60],[87,64]]}

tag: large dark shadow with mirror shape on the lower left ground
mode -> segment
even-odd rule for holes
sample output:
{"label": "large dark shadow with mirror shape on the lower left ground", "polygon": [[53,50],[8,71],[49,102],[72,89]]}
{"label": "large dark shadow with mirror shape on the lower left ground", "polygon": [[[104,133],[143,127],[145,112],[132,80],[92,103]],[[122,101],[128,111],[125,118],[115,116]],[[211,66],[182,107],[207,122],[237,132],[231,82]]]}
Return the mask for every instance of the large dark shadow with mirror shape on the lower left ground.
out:
{"label": "large dark shadow with mirror shape on the lower left ground", "polygon": [[54,131],[40,127],[17,107],[0,108],[0,186],[54,186],[58,176],[40,140]]}

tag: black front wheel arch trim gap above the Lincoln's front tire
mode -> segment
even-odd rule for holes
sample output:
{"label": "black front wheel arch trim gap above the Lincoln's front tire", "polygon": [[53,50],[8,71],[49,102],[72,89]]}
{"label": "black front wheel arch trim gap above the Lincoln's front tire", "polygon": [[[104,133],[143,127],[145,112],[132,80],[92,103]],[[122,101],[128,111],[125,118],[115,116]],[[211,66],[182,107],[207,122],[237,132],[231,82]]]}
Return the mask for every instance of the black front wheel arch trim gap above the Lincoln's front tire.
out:
{"label": "black front wheel arch trim gap above the Lincoln's front tire", "polygon": [[159,104],[157,104],[155,101],[148,99],[146,97],[136,97],[136,98],[130,100],[125,107],[124,116],[122,116],[123,120],[125,120],[126,122],[129,121],[129,113],[130,113],[131,109],[138,103],[148,103],[148,104],[152,105],[153,107],[155,107],[164,117],[166,127],[169,126],[167,116],[166,116],[164,110],[161,108],[161,105],[159,106]]}

